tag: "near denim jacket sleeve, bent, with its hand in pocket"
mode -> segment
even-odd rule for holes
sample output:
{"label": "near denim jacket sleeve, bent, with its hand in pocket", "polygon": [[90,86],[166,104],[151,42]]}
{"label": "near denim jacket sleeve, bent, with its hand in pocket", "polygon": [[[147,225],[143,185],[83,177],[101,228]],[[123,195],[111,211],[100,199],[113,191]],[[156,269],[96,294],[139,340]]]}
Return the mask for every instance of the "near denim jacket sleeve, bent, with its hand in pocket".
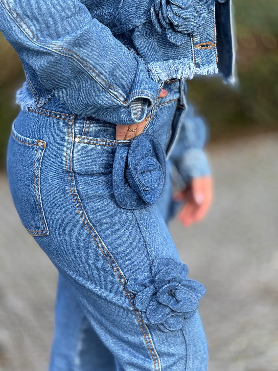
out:
{"label": "near denim jacket sleeve, bent, with its hand in pocket", "polygon": [[140,122],[158,82],[77,0],[0,0],[0,30],[40,82],[79,115]]}

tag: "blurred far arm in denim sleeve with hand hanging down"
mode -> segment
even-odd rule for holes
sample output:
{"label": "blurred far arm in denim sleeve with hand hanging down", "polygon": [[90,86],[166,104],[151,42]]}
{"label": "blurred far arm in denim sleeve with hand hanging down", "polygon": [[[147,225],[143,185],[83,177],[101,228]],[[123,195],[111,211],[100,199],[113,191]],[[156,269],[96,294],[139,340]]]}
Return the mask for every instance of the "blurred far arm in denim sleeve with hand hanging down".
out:
{"label": "blurred far arm in denim sleeve with hand hanging down", "polygon": [[206,126],[201,118],[194,116],[191,105],[188,105],[187,110],[180,137],[170,158],[185,185],[185,189],[174,195],[175,200],[186,201],[179,215],[179,220],[185,226],[201,220],[212,199],[212,179],[203,152]]}

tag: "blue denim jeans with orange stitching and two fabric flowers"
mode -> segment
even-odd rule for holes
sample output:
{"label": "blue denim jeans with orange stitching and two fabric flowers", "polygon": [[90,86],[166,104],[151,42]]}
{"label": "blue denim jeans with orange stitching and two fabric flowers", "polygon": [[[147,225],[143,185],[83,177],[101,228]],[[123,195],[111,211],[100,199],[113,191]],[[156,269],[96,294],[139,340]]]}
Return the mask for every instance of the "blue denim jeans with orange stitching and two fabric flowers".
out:
{"label": "blue denim jeans with orange stitching and two fabric flowers", "polygon": [[206,370],[205,289],[188,279],[164,220],[178,85],[130,141],[56,96],[14,122],[11,194],[59,270],[51,371]]}

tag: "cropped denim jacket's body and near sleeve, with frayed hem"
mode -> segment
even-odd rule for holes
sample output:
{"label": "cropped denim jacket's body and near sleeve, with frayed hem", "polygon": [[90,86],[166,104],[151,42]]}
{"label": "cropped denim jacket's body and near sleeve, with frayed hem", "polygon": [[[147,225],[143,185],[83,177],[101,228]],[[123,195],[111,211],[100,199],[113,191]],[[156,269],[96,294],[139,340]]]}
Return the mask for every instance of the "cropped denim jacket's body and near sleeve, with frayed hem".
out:
{"label": "cropped denim jacket's body and near sleeve, with frayed hem", "polygon": [[[21,99],[22,108],[41,108],[55,95],[78,115],[142,121],[155,107],[160,82],[217,72],[216,21],[231,65],[230,2],[218,3],[215,20],[215,0],[49,0],[40,6],[0,0],[0,30],[19,54],[33,95]],[[228,78],[232,69],[223,73]]]}

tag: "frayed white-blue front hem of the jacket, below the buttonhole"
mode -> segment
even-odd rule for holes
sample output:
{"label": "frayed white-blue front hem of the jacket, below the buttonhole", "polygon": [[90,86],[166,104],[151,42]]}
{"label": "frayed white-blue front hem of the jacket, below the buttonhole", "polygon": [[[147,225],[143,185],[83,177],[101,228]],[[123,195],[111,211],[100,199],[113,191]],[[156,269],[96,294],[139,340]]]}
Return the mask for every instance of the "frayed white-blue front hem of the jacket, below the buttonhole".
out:
{"label": "frayed white-blue front hem of the jacket, below the buttonhole", "polygon": [[154,81],[169,81],[172,79],[190,80],[195,74],[209,75],[218,72],[216,64],[209,67],[195,68],[192,62],[180,60],[155,64],[146,63],[146,68]]}

